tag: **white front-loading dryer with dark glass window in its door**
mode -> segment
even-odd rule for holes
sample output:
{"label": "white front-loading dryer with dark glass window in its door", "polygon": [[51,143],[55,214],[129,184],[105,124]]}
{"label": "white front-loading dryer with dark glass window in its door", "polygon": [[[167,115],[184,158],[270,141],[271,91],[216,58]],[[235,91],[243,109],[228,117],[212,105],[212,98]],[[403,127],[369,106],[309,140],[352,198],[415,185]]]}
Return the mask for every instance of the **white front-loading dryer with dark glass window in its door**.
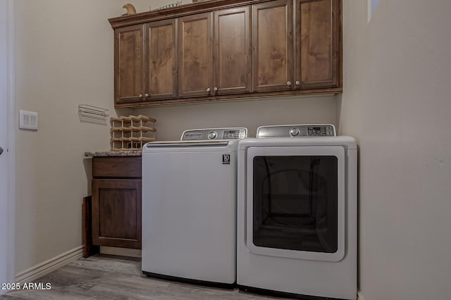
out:
{"label": "white front-loading dryer with dark glass window in its door", "polygon": [[237,285],[357,299],[357,146],[333,125],[264,126],[238,146]]}

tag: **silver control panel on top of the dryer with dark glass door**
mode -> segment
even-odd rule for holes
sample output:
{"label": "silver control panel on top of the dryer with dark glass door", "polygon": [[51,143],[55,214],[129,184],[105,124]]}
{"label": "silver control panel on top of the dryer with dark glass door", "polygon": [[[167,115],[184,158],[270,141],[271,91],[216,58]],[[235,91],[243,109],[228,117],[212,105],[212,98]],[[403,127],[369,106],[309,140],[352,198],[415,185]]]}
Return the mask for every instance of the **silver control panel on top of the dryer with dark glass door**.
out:
{"label": "silver control panel on top of the dryer with dark glass door", "polygon": [[300,124],[261,126],[257,129],[257,138],[264,137],[335,137],[332,124]]}

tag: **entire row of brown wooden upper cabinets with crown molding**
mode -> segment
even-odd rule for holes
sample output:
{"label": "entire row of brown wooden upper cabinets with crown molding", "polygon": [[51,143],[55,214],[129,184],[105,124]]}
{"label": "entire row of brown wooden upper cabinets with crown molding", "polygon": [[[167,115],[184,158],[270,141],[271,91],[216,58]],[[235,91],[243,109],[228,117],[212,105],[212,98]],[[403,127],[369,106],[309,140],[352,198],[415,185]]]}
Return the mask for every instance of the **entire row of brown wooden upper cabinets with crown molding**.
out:
{"label": "entire row of brown wooden upper cabinets with crown molding", "polygon": [[115,105],[342,92],[341,0],[211,0],[109,19]]}

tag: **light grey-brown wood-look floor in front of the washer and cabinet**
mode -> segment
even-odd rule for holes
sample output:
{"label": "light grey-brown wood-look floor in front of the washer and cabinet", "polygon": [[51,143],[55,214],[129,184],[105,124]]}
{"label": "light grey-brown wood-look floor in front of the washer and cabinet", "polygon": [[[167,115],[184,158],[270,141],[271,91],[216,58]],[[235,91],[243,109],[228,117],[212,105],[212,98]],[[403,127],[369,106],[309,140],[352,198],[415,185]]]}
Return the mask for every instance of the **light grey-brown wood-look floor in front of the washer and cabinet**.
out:
{"label": "light grey-brown wood-look floor in front of the washer and cabinet", "polygon": [[278,299],[241,292],[238,289],[201,287],[146,277],[138,260],[97,255],[80,258],[35,282],[50,283],[47,290],[8,292],[0,299]]}

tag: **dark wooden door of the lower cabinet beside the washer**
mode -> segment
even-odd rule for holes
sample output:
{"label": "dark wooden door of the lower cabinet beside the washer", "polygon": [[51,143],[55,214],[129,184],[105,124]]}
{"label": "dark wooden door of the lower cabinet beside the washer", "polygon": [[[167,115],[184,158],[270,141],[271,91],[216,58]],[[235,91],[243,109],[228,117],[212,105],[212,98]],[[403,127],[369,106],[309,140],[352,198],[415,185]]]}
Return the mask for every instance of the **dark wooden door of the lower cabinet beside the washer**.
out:
{"label": "dark wooden door of the lower cabinet beside the washer", "polygon": [[141,180],[92,180],[92,243],[141,249]]}

